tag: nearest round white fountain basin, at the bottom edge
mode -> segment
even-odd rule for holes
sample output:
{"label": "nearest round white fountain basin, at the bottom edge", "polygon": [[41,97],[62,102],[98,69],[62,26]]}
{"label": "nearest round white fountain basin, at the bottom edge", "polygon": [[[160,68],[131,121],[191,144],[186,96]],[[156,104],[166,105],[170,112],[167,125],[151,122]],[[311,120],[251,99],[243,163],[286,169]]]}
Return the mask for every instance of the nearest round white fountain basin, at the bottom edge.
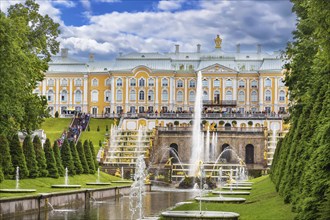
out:
{"label": "nearest round white fountain basin, at the bottom edge", "polygon": [[166,211],[162,212],[165,219],[238,219],[235,212],[219,211]]}

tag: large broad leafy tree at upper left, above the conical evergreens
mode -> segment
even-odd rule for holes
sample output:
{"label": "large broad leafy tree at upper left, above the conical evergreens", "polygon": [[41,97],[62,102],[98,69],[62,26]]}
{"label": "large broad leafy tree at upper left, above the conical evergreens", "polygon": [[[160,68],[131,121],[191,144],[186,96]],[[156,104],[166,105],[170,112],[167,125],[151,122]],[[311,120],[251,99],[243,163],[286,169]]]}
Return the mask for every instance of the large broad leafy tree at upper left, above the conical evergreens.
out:
{"label": "large broad leafy tree at upper left, above the conical evergreens", "polygon": [[0,35],[0,130],[6,135],[31,133],[48,116],[45,97],[32,92],[58,52],[60,32],[59,24],[38,11],[33,0],[0,11],[0,33],[6,33]]}

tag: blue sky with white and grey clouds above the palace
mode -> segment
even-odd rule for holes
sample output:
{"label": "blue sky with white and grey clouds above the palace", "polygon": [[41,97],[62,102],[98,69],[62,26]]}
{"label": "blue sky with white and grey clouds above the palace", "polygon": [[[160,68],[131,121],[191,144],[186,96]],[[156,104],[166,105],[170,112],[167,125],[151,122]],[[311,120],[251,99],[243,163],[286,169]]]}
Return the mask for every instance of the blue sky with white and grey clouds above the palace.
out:
{"label": "blue sky with white and grey clouds above the palace", "polygon": [[[23,0],[0,0],[1,11]],[[119,53],[284,50],[296,16],[289,0],[37,0],[60,24],[61,48],[79,59],[111,60]]]}

